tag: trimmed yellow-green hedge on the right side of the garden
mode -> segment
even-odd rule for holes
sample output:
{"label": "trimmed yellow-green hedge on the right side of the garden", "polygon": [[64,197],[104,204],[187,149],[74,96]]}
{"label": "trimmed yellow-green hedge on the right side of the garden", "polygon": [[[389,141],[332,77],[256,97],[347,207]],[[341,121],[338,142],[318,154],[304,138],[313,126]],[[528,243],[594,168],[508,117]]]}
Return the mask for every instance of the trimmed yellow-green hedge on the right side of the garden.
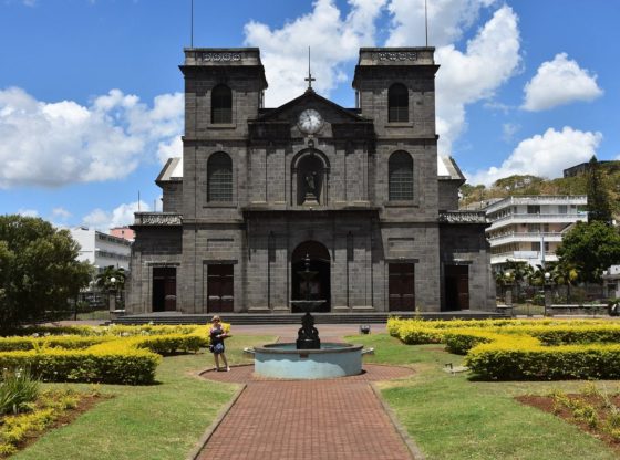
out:
{"label": "trimmed yellow-green hedge on the right side of the garden", "polygon": [[620,324],[609,321],[391,318],[404,343],[445,343],[483,379],[620,378]]}

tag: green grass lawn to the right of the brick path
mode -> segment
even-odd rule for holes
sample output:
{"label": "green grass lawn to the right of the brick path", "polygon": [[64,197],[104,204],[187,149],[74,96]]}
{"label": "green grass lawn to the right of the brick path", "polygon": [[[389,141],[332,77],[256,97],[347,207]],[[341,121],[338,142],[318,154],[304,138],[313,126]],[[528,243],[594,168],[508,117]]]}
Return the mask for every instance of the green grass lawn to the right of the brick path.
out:
{"label": "green grass lawn to the right of the brick path", "polygon": [[348,339],[375,347],[369,362],[410,365],[416,370],[411,378],[382,383],[380,388],[428,460],[618,458],[590,435],[514,399],[555,388],[576,393],[582,381],[471,381],[465,373],[442,370],[446,363],[461,365],[463,357],[444,352],[441,345],[406,346],[383,334]]}

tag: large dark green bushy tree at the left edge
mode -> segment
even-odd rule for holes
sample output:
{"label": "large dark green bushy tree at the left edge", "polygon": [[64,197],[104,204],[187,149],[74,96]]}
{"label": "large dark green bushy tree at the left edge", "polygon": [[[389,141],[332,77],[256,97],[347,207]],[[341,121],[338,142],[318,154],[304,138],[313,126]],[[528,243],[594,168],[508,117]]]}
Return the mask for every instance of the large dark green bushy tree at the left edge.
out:
{"label": "large dark green bushy tree at the left edge", "polygon": [[0,216],[0,330],[58,317],[91,280],[92,265],[78,262],[79,244],[68,230],[22,216]]}

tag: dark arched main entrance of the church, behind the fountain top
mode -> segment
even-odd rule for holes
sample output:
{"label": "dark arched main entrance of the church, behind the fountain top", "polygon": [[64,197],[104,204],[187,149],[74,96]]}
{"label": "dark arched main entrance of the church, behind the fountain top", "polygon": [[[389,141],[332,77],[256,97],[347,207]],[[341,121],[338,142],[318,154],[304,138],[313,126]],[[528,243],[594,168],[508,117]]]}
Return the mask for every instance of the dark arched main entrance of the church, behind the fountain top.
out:
{"label": "dark arched main entrance of the church, behind the fountain top", "polygon": [[[306,271],[306,255],[310,259],[308,270],[316,272],[309,281],[300,272]],[[324,300],[316,312],[329,312],[331,309],[331,258],[328,249],[318,241],[304,241],[299,244],[291,257],[291,300]],[[291,306],[292,313],[303,313]]]}

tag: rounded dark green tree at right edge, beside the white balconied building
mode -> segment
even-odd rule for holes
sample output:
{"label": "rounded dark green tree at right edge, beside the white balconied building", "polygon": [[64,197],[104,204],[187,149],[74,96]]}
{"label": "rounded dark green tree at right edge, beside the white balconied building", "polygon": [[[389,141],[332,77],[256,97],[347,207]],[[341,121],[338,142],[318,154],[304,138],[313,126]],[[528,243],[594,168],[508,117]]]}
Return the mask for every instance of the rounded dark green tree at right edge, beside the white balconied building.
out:
{"label": "rounded dark green tree at right edge, beside the white balconied building", "polygon": [[600,221],[577,222],[556,253],[560,264],[579,271],[582,281],[600,283],[603,270],[620,263],[620,232]]}

